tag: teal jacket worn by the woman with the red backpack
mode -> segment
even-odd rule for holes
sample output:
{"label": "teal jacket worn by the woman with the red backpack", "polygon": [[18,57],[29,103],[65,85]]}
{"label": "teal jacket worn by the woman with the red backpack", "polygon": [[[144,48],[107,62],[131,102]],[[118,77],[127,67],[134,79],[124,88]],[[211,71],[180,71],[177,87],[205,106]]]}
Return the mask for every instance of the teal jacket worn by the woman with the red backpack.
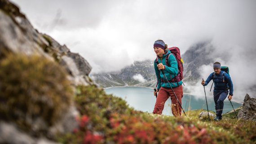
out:
{"label": "teal jacket worn by the woman with the red backpack", "polygon": [[[170,50],[167,50],[167,52],[165,54],[163,54],[162,60],[158,57],[157,60],[159,63],[162,63],[165,66],[165,69],[163,70],[165,76],[167,77],[169,83],[171,84],[172,87],[178,87],[182,84],[182,81],[180,82],[175,82],[172,83],[171,80],[177,76],[178,74],[178,63],[176,58],[170,54],[169,55],[169,65],[171,65],[170,67],[166,65],[165,63],[165,58],[166,56],[171,53]],[[164,77],[163,73],[161,70],[158,70],[156,61],[154,61],[154,70],[155,70],[155,74],[156,74],[156,78],[157,78],[157,89],[160,89],[160,87],[167,87],[170,88],[170,85],[168,84],[166,78]]]}

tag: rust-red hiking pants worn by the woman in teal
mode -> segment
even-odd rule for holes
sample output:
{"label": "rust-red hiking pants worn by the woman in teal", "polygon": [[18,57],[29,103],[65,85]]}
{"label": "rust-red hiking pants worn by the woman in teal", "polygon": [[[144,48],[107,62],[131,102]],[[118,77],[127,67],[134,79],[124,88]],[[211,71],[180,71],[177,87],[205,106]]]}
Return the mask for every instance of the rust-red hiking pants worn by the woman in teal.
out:
{"label": "rust-red hiking pants worn by the woman in teal", "polygon": [[[172,89],[181,103],[181,98],[183,97],[182,85],[180,85],[179,87],[173,87]],[[162,114],[164,103],[166,100],[168,100],[169,96],[171,96],[172,114],[175,117],[181,116],[181,106],[179,105],[175,95],[173,94],[172,89],[166,87],[160,88],[154,105],[153,113]]]}

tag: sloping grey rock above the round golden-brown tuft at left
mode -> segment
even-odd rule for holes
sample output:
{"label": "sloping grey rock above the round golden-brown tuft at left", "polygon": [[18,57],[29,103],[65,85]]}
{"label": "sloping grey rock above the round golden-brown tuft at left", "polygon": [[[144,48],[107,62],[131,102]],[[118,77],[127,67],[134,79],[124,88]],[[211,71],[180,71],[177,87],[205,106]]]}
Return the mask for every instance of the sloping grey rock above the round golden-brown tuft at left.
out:
{"label": "sloping grey rock above the round golden-brown tuft at left", "polygon": [[83,57],[35,30],[16,5],[0,0],[0,57],[5,51],[44,56],[63,65],[74,85],[92,84],[92,67]]}

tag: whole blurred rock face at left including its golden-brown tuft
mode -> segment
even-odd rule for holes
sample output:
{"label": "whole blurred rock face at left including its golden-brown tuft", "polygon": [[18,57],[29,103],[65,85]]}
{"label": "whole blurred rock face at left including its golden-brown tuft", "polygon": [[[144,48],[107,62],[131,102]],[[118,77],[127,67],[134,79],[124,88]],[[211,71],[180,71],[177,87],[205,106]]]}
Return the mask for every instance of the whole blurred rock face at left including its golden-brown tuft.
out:
{"label": "whole blurred rock face at left including its golden-brown tuft", "polygon": [[74,86],[93,84],[91,69],[0,0],[0,144],[54,144],[77,127]]}

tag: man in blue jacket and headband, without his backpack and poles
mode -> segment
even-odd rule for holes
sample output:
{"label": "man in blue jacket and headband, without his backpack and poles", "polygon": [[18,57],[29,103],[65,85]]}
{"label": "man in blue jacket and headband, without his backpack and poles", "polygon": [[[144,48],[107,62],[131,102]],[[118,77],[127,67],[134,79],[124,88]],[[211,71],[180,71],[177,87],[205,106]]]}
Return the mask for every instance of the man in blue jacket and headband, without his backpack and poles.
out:
{"label": "man in blue jacket and headband, without his backpack and poles", "polygon": [[230,75],[227,74],[225,71],[221,70],[221,63],[215,62],[213,64],[214,72],[211,73],[207,80],[204,82],[202,80],[201,84],[203,86],[207,86],[207,84],[213,80],[214,82],[214,90],[213,90],[213,99],[215,102],[215,110],[216,110],[216,117],[214,118],[215,121],[220,121],[222,119],[222,110],[224,106],[224,100],[226,99],[228,92],[230,90],[228,99],[231,100],[233,96],[233,83],[230,78]]}

